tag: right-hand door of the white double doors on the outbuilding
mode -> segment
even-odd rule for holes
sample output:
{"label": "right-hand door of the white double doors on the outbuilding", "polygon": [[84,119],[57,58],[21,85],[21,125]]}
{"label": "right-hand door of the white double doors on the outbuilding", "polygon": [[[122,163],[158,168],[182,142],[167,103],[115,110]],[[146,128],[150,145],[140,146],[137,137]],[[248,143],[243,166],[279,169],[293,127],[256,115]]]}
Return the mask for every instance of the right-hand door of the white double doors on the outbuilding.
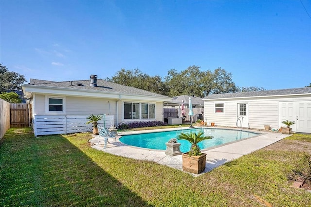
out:
{"label": "right-hand door of the white double doors on the outbuilding", "polygon": [[311,102],[297,102],[296,131],[311,133]]}

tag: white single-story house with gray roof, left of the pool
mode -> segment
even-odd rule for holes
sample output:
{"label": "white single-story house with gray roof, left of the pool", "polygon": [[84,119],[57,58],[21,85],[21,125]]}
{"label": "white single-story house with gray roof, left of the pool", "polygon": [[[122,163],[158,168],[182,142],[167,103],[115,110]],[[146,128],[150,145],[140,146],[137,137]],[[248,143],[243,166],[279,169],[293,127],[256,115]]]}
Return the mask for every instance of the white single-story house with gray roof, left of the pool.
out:
{"label": "white single-story house with gray roof, left of the pool", "polygon": [[130,121],[163,121],[164,102],[171,97],[115,84],[91,75],[82,81],[30,79],[22,85],[32,104],[35,136],[90,131],[86,117],[104,116],[100,124],[117,126]]}

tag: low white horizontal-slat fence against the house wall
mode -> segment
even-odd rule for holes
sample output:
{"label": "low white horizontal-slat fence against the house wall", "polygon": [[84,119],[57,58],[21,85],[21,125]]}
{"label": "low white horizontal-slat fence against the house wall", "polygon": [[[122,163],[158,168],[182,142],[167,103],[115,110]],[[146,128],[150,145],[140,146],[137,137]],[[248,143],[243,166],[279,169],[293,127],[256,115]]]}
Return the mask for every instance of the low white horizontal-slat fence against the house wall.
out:
{"label": "low white horizontal-slat fence against the house wall", "polygon": [[[69,134],[78,132],[91,132],[92,124],[87,124],[89,115],[35,115],[34,117],[34,134],[39,135],[55,135]],[[100,126],[109,128],[113,126],[114,116],[103,115],[98,121]]]}

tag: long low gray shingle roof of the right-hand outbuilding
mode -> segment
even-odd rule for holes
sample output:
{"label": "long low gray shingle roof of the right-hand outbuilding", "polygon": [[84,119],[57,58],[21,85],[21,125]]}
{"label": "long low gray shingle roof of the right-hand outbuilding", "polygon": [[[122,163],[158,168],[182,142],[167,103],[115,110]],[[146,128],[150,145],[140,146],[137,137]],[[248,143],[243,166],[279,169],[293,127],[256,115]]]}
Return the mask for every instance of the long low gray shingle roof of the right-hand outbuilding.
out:
{"label": "long low gray shingle roof of the right-hand outbuilding", "polygon": [[255,96],[280,96],[280,95],[294,95],[294,94],[311,94],[311,87],[281,89],[281,90],[263,90],[242,93],[223,93],[211,94],[203,99],[226,99],[226,98],[243,98]]}

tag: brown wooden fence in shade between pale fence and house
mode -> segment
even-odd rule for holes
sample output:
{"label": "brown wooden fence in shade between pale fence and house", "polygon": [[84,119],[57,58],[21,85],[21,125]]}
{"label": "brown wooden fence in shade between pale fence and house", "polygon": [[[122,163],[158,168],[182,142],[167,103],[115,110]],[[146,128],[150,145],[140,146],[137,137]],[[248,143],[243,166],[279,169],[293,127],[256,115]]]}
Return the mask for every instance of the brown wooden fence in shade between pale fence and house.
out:
{"label": "brown wooden fence in shade between pale fence and house", "polygon": [[19,103],[10,105],[10,122],[13,127],[29,127],[30,126],[30,104]]}

